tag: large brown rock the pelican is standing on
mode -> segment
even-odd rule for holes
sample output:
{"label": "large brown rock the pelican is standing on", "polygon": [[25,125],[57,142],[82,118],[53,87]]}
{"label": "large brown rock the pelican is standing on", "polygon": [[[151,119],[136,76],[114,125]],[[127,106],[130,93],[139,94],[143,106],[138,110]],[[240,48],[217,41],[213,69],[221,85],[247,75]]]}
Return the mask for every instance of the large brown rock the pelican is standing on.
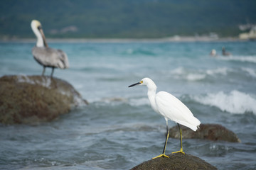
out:
{"label": "large brown rock the pelican is standing on", "polygon": [[87,104],[67,81],[41,76],[0,78],[0,123],[39,123]]}

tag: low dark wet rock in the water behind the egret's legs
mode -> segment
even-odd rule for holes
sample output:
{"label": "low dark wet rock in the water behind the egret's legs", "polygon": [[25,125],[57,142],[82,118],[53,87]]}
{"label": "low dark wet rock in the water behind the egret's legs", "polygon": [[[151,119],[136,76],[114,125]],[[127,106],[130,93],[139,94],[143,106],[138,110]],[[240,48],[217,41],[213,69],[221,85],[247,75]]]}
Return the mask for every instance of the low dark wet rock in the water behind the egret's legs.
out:
{"label": "low dark wet rock in the water behind the egret's legs", "polygon": [[[227,142],[240,142],[234,132],[218,124],[201,124],[200,128],[193,130],[181,125],[183,139],[223,140]],[[170,137],[179,139],[178,126],[170,129]]]}

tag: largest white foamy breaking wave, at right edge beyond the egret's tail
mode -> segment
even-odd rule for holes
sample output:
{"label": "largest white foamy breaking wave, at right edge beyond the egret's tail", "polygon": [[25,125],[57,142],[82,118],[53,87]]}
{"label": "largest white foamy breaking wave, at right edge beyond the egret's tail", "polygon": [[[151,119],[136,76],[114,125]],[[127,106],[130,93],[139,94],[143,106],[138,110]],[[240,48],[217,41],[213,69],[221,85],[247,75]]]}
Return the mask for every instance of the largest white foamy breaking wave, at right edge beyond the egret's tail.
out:
{"label": "largest white foamy breaking wave, at right edge beyond the egret's tail", "polygon": [[240,91],[234,90],[231,91],[230,94],[225,94],[223,91],[220,91],[217,94],[193,96],[192,98],[198,103],[218,107],[221,111],[235,114],[246,112],[256,114],[256,99]]}

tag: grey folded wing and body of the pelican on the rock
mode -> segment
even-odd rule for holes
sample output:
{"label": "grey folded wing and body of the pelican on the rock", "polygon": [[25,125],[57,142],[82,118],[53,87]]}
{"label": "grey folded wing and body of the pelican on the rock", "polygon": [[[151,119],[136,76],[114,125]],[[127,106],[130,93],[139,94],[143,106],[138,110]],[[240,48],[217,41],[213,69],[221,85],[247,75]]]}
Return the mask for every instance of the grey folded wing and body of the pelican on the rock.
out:
{"label": "grey folded wing and body of the pelican on the rock", "polygon": [[46,67],[58,67],[60,69],[69,67],[68,57],[62,50],[55,50],[50,47],[33,47],[32,54],[37,62]]}

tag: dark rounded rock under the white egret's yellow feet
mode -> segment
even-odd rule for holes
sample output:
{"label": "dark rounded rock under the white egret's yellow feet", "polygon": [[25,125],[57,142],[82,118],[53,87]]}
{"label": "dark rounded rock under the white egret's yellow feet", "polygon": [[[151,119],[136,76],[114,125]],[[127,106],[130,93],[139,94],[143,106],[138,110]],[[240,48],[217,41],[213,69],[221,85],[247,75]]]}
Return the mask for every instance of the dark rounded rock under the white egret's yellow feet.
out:
{"label": "dark rounded rock under the white egret's yellow feet", "polygon": [[160,157],[156,159],[150,159],[132,168],[132,170],[165,170],[165,169],[216,169],[215,166],[208,164],[203,159],[195,157],[191,154],[169,154],[169,158]]}

